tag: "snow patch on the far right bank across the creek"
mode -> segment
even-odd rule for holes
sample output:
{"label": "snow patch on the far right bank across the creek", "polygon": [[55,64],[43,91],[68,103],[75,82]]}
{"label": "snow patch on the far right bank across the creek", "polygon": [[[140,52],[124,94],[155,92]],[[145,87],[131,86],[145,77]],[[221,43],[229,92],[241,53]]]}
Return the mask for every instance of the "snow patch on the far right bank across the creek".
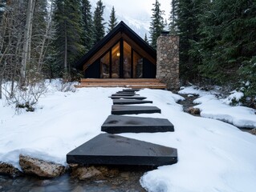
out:
{"label": "snow patch on the far right bank across the creek", "polygon": [[180,94],[197,94],[200,97],[194,100],[195,108],[201,110],[201,117],[213,118],[229,122],[242,128],[256,128],[255,110],[245,106],[230,106],[232,101],[239,102],[243,97],[241,92],[232,91],[225,99],[218,99],[215,90],[213,93],[197,90],[194,86],[179,91]]}

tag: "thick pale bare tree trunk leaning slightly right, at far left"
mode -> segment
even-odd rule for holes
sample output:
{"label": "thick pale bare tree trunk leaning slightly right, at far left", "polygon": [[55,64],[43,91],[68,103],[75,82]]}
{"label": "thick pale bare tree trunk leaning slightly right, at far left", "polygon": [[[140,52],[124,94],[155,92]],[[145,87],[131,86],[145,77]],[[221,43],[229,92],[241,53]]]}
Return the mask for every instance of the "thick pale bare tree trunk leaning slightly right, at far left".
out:
{"label": "thick pale bare tree trunk leaning slightly right, at far left", "polygon": [[26,26],[24,33],[24,45],[22,50],[22,66],[20,69],[21,75],[21,86],[25,85],[26,80],[26,62],[28,62],[28,51],[29,51],[29,43],[30,43],[30,29],[32,25],[33,12],[35,8],[35,0],[28,0],[27,11],[26,11]]}

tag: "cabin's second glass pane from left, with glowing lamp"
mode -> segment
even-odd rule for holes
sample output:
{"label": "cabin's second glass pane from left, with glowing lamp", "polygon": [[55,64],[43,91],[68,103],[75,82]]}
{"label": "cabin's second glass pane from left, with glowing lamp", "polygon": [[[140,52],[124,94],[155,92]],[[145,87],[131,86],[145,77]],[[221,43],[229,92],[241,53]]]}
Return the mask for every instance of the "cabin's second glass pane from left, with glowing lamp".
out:
{"label": "cabin's second glass pane from left, with glowing lamp", "polygon": [[120,43],[112,48],[112,78],[120,78]]}

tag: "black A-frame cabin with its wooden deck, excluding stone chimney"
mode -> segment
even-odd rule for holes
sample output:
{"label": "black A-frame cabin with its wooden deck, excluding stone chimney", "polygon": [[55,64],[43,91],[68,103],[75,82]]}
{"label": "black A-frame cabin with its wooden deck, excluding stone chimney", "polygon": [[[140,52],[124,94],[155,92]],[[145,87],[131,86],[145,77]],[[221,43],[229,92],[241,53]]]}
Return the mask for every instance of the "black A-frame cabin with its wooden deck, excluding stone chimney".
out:
{"label": "black A-frame cabin with its wooden deck, excluding stone chimney", "polygon": [[120,22],[76,63],[83,71],[77,87],[125,86],[165,89],[156,78],[156,50]]}

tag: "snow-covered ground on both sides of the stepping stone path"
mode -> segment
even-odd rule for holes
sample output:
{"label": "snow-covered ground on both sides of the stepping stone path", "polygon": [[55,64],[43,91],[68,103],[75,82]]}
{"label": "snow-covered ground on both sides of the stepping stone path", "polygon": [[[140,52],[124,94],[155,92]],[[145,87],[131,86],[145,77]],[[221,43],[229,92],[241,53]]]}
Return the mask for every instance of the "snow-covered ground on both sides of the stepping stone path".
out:
{"label": "snow-covered ground on both sides of the stepping stone path", "polygon": [[[49,86],[49,90],[32,113],[17,115],[12,106],[0,105],[0,162],[10,162],[19,167],[18,154],[22,153],[65,165],[69,151],[100,134],[100,126],[111,113],[112,99],[108,97],[121,88],[83,88],[72,93],[60,92]],[[194,94],[188,89],[186,91]],[[162,113],[137,116],[168,118],[175,132],[120,135],[174,147],[178,151],[177,164],[160,166],[144,174],[140,179],[141,186],[156,192],[255,191],[254,135],[226,122],[184,113],[182,106],[177,104],[184,98],[169,91],[145,89],[138,94],[152,100],[152,106],[161,108]],[[205,113],[203,107],[207,102],[204,98],[212,96],[207,92],[199,94],[202,97],[197,102],[202,104],[198,107]],[[215,106],[222,103],[213,102],[211,105],[216,109]],[[241,109],[233,108],[231,111],[235,110]],[[221,111],[227,115],[225,110]],[[254,112],[246,108],[237,113],[236,121],[241,118],[241,123],[246,124],[244,116],[250,111]],[[209,114],[213,115],[213,112]]]}

